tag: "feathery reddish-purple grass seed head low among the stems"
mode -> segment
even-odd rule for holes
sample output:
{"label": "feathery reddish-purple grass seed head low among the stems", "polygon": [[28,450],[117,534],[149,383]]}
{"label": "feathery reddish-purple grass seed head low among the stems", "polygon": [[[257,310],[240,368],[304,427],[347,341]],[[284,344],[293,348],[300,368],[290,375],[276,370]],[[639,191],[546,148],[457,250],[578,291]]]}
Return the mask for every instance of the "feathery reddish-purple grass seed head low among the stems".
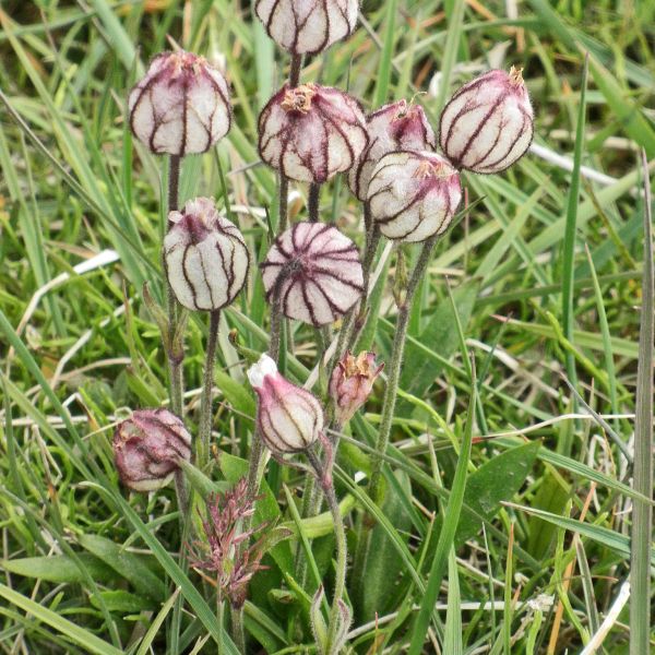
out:
{"label": "feathery reddish-purple grass seed head low among the stems", "polygon": [[252,576],[262,569],[263,541],[245,545],[261,533],[266,524],[243,529],[254,514],[254,502],[248,497],[248,483],[241,478],[225,493],[213,493],[206,500],[206,517],[202,520],[205,535],[193,548],[195,569],[211,574],[221,599],[241,608],[248,597]]}

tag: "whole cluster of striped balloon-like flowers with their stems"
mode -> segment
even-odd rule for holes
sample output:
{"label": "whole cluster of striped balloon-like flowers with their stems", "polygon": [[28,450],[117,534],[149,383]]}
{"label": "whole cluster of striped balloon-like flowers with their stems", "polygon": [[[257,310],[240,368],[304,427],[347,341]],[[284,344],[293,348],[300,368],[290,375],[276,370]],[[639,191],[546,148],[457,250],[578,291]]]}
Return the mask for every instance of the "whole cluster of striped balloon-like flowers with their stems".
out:
{"label": "whole cluster of striped balloon-like flowers with their stems", "polygon": [[[381,420],[364,487],[371,502],[381,504],[382,464],[409,317],[439,237],[455,225],[462,211],[461,171],[500,172],[514,164],[532,142],[533,112],[521,71],[512,68],[509,73],[489,71],[465,84],[443,108],[439,126],[430,123],[416,97],[395,99],[367,116],[359,100],[345,91],[300,79],[303,57],[320,55],[354,32],[356,0],[258,0],[255,13],[291,58],[288,81],[259,117],[259,153],[278,176],[278,215],[276,234],[258,272],[251,271],[255,255],[249,252],[246,237],[213,199],[195,198],[179,207],[181,162],[206,153],[230,129],[233,110],[224,74],[203,57],[176,49],[156,56],[129,94],[134,136],[153,154],[169,157],[168,219],[162,243],[168,289],[165,309],[147,289],[144,295],[168,358],[170,410],[136,409],[117,428],[114,453],[121,481],[133,491],[153,491],[176,478],[186,535],[181,557],[190,559],[205,581],[204,586],[199,582],[199,588],[215,595],[222,628],[224,603],[229,603],[231,640],[242,653],[254,648],[243,629],[249,585],[265,569],[261,561],[266,549],[297,534],[278,531],[275,536],[275,524],[258,517],[262,493],[270,493],[262,488],[267,453],[279,466],[305,476],[300,520],[312,520],[325,502],[336,544],[333,574],[313,581],[317,591],[308,618],[315,652],[335,655],[350,647],[348,562],[355,562],[353,586],[366,585],[359,576],[366,570],[376,523],[372,514],[362,517],[350,540],[354,553],[349,558],[334,475],[340,436],[366,404],[384,369]],[[438,143],[441,152],[437,152]],[[362,203],[361,249],[321,216],[321,188],[342,174]],[[291,222],[290,183],[309,186],[307,219]],[[394,243],[398,258],[397,320],[386,362],[379,362],[371,352],[353,352],[368,314],[381,238]],[[418,248],[415,258],[413,247]],[[409,272],[406,257],[415,260]],[[215,457],[221,461],[222,456],[212,443],[221,312],[245,289],[249,273],[260,276],[270,306],[267,352],[258,354],[236,344],[251,361],[248,380],[257,394],[250,457],[234,487],[207,491],[214,484]],[[184,427],[182,403],[184,358],[190,355],[184,348],[184,327],[193,313],[201,321],[209,313],[194,439],[191,427]],[[307,324],[317,334],[319,391],[310,390],[313,382],[303,386],[299,370],[289,367],[289,325],[294,322]],[[206,483],[205,492],[194,500],[190,483],[196,488],[199,473]],[[315,562],[300,547],[296,555],[298,582],[294,584],[306,584],[308,563],[315,575]],[[326,615],[324,590],[332,593]]]}

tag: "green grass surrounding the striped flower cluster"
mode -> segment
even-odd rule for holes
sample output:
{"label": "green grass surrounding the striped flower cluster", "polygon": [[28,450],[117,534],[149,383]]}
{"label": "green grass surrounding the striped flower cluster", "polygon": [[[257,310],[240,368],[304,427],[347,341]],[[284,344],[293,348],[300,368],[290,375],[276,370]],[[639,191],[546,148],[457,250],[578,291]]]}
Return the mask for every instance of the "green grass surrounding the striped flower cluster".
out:
{"label": "green grass surrounding the striped flower cluster", "polygon": [[[163,297],[167,163],[132,141],[124,121],[127,93],[148,58],[168,47],[167,35],[225,57],[236,116],[216,153],[184,162],[182,200],[206,194],[222,204],[227,195],[253,258],[267,249],[276,181],[257,165],[254,130],[288,60],[249,5],[0,7],[3,653],[215,653],[221,640],[225,652],[238,652],[210,585],[178,559],[174,489],[128,493],[110,442],[130,409],[168,402],[162,340],[142,297],[144,282]],[[529,0],[509,17],[500,1],[365,0],[362,13],[366,23],[349,40],[305,62],[303,80],[348,86],[367,109],[428,92],[416,102],[436,124],[450,93],[491,62],[523,67],[536,143],[569,157],[573,170],[528,155],[500,176],[463,177],[476,204],[438,246],[410,318],[381,505],[355,475],[369,471],[382,382],[340,446],[335,479],[352,552],[365,511],[377,520],[376,557],[358,572],[369,583],[356,590],[350,576],[347,584],[349,647],[579,653],[611,609],[631,556],[640,580],[654,561],[645,454],[653,327],[641,325],[642,315],[652,317],[643,228],[652,214],[639,151],[652,174],[655,9]],[[590,179],[584,167],[609,183]],[[293,188],[306,198],[307,189]],[[330,184],[322,203],[323,215],[334,213],[361,243],[361,210],[347,184]],[[74,273],[104,249],[118,261]],[[415,254],[407,249],[409,261]],[[395,265],[392,252],[364,337],[382,360],[396,317]],[[253,270],[247,295],[224,313],[214,407],[214,442],[224,455],[205,472],[210,479],[192,473],[196,498],[245,472],[254,413],[245,370],[248,357],[265,349],[267,314]],[[205,336],[205,321],[190,320],[186,403],[194,433]],[[303,382],[317,336],[294,324],[287,343],[286,370]],[[277,521],[284,534],[251,585],[250,652],[311,653],[319,580],[331,598],[331,519],[301,519],[299,472],[270,465],[266,481],[258,515]],[[295,576],[298,543],[311,553],[305,580]],[[655,648],[652,588],[638,585],[629,605],[599,653]],[[178,614],[179,639],[169,639]]]}

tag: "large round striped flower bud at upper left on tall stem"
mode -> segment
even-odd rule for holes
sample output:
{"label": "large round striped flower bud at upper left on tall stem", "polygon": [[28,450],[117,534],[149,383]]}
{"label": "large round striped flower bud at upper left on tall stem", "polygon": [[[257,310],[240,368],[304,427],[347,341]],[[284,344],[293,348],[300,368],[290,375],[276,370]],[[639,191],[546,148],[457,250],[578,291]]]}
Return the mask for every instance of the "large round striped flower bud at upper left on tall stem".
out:
{"label": "large round striped flower bud at upper left on tall stem", "polygon": [[184,50],[155,57],[130,92],[130,127],[157,154],[205,153],[229,130],[227,82],[204,57]]}

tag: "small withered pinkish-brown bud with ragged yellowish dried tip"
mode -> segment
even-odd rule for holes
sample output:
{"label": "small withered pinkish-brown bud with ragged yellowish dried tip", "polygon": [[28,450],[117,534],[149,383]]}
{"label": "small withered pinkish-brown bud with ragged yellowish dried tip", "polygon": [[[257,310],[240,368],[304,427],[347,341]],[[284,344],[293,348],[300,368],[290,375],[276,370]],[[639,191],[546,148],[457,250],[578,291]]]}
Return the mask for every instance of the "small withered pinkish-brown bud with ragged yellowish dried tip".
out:
{"label": "small withered pinkish-brown bud with ragged yellowish dried tip", "polygon": [[366,403],[383,368],[384,364],[376,366],[374,353],[366,350],[357,357],[347,352],[341,358],[330,378],[330,396],[334,402],[334,418],[338,425],[349,421]]}

